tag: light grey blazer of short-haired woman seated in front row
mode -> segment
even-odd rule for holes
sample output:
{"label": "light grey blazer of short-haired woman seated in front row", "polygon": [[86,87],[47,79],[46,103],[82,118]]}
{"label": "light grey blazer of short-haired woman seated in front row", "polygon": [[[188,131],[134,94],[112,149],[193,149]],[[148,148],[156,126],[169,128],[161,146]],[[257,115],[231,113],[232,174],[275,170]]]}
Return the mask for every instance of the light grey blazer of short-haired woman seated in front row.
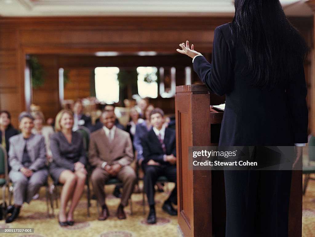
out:
{"label": "light grey blazer of short-haired woman seated in front row", "polygon": [[[18,134],[9,139],[9,165],[12,170],[19,171],[23,167],[22,158],[26,140],[23,134]],[[45,139],[42,135],[31,134],[27,140],[27,151],[32,161],[29,169],[37,171],[46,166]]]}

